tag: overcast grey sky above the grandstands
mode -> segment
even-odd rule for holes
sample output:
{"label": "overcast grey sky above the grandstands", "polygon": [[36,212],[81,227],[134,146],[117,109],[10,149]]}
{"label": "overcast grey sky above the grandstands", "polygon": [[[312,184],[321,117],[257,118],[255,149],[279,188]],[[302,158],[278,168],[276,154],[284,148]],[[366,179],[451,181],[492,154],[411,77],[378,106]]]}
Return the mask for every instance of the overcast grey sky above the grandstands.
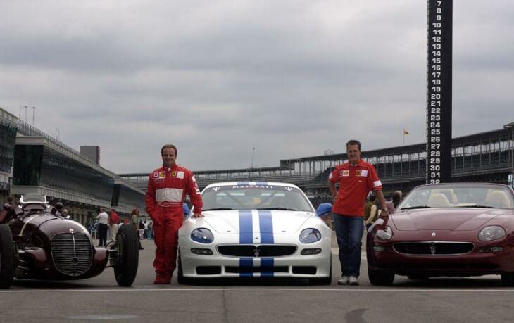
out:
{"label": "overcast grey sky above the grandstands", "polygon": [[[113,172],[426,141],[426,0],[0,0],[0,107]],[[514,121],[514,1],[453,1],[453,137]],[[32,108],[21,117],[32,124]]]}

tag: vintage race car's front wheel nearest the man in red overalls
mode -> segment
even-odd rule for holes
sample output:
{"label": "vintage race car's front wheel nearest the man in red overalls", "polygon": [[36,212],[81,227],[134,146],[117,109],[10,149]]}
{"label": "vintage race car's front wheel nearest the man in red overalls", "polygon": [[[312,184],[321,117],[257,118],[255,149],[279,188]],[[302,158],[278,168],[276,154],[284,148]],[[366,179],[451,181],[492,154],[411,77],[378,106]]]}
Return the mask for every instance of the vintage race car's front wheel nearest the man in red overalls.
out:
{"label": "vintage race car's front wheel nearest the man in red overalls", "polygon": [[131,286],[136,279],[139,265],[139,239],[132,225],[122,225],[116,234],[118,261],[114,266],[114,277],[119,286]]}

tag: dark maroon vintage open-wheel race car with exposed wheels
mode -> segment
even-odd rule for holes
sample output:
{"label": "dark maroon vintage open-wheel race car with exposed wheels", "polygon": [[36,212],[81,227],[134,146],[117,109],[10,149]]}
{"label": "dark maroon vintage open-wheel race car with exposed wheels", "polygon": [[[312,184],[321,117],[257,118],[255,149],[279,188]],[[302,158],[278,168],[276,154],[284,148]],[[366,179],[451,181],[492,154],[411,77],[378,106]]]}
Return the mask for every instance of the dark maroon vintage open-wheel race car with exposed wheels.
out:
{"label": "dark maroon vintage open-wheel race car with exposed wheels", "polygon": [[139,243],[132,225],[116,240],[95,248],[82,224],[60,215],[61,203],[26,194],[19,206],[4,205],[0,215],[0,288],[16,279],[70,280],[94,277],[113,267],[119,286],[131,286],[137,274]]}

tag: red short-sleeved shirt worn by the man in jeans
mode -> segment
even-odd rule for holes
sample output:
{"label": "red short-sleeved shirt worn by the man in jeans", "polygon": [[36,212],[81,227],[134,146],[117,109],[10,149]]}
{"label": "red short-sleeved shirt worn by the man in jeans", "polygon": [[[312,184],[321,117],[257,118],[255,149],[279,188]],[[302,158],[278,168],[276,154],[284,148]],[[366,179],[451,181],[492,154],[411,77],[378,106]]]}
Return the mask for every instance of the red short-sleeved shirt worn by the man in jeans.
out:
{"label": "red short-sleeved shirt worn by the man in jeans", "polygon": [[364,203],[370,191],[382,189],[375,167],[364,160],[357,165],[344,163],[337,165],[328,179],[332,183],[339,182],[337,201],[332,207],[332,213],[362,217]]}

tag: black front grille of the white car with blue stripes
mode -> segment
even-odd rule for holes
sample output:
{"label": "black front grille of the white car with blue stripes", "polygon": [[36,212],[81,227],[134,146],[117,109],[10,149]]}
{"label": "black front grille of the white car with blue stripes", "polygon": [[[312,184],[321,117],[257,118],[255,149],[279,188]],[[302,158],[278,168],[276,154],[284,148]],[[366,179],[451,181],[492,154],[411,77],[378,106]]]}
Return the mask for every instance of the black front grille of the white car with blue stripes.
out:
{"label": "black front grille of the white car with blue stripes", "polygon": [[231,257],[281,257],[292,255],[296,252],[296,246],[287,245],[226,245],[218,246],[218,252]]}

